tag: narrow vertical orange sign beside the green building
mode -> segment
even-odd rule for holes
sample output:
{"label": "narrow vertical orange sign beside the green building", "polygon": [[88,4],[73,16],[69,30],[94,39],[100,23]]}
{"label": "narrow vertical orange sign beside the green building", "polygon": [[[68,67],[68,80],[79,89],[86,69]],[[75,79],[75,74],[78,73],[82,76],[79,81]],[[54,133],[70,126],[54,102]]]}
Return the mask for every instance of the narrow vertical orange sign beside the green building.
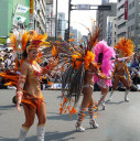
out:
{"label": "narrow vertical orange sign beside the green building", "polygon": [[34,21],[33,21],[33,1],[34,0],[30,0],[30,23],[29,23],[29,29],[30,30],[34,29],[33,28],[33,23],[34,23]]}

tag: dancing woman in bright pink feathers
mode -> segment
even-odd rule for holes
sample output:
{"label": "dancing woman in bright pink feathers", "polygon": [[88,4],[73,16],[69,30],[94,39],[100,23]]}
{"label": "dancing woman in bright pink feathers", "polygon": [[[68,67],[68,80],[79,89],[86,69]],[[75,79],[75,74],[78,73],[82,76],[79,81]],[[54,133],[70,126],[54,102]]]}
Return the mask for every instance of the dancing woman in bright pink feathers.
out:
{"label": "dancing woman in bright pink feathers", "polygon": [[[100,67],[100,72],[109,77],[111,75],[112,70],[112,63],[111,58],[115,57],[115,51],[112,47],[108,46],[105,41],[100,41],[96,46],[94,47],[95,51],[95,62],[97,62]],[[100,90],[101,90],[101,97],[97,104],[98,106],[101,104],[103,110],[105,110],[105,97],[108,94],[109,86],[111,86],[111,79],[100,79],[97,77],[97,75],[94,75],[95,83],[98,84]]]}

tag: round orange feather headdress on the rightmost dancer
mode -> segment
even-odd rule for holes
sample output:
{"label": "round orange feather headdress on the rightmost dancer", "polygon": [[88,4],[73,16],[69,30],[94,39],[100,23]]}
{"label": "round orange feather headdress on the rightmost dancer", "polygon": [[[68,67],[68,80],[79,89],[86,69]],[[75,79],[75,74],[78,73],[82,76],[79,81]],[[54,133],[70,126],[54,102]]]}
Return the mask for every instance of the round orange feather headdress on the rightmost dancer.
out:
{"label": "round orange feather headdress on the rightmost dancer", "polygon": [[132,44],[132,41],[129,39],[120,39],[120,41],[115,46],[117,51],[119,51],[119,54],[121,57],[129,57],[133,54],[134,45]]}

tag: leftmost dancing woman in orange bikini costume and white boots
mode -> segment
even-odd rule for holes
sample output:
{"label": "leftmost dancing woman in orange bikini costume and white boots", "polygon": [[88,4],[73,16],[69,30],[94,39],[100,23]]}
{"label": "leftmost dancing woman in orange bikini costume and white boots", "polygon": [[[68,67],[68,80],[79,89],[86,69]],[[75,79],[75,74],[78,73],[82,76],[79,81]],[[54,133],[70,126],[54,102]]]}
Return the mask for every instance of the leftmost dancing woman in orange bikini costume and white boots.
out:
{"label": "leftmost dancing woman in orange bikini costume and white boots", "polygon": [[49,63],[46,67],[40,67],[36,59],[39,48],[46,43],[45,39],[47,35],[34,32],[30,36],[29,32],[24,32],[23,34],[19,33],[19,36],[18,39],[14,34],[11,34],[10,37],[11,46],[14,50],[22,50],[23,55],[22,62],[20,62],[20,77],[17,85],[17,109],[21,111],[20,105],[22,102],[25,122],[21,127],[19,141],[24,141],[30,127],[34,122],[35,115],[39,119],[37,141],[44,141],[46,108],[41,93],[40,77],[43,74],[50,74],[52,66]]}

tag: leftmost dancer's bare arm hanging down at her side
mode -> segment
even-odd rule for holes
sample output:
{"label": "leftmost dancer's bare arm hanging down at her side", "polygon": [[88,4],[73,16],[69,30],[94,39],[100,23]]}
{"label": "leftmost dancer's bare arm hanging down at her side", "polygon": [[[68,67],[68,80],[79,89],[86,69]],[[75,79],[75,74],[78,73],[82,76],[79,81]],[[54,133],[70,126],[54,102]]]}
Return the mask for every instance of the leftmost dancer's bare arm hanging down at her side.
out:
{"label": "leftmost dancer's bare arm hanging down at her side", "polygon": [[17,86],[17,109],[19,111],[21,110],[20,104],[21,104],[21,99],[23,96],[23,87],[25,84],[26,75],[28,75],[28,65],[25,63],[23,63],[22,67],[21,67],[21,74],[19,77],[18,86]]}

